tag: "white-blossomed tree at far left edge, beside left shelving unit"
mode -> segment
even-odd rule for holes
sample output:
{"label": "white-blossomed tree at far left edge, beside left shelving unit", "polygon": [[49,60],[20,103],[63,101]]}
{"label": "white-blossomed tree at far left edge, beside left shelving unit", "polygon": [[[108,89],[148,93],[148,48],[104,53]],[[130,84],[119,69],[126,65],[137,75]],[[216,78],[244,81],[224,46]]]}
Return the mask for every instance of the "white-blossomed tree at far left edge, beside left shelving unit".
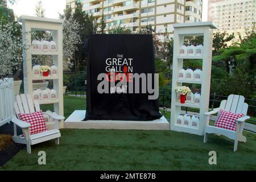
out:
{"label": "white-blossomed tree at far left edge, beside left shelving unit", "polygon": [[22,61],[21,28],[16,22],[0,22],[0,77],[11,75]]}

